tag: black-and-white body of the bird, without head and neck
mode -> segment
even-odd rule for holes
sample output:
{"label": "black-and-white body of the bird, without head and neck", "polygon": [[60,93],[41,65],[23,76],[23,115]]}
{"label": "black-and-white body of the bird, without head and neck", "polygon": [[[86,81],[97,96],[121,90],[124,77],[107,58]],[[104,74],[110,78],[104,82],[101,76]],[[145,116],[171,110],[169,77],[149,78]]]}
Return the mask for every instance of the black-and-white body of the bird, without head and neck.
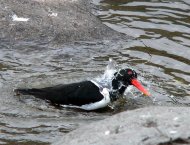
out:
{"label": "black-and-white body of the bird, without head and neck", "polygon": [[15,92],[23,95],[34,95],[37,98],[48,100],[53,104],[63,104],[82,109],[86,108],[85,110],[94,110],[101,106],[105,107],[110,102],[108,90],[97,86],[93,81],[82,81],[39,89],[16,89]]}

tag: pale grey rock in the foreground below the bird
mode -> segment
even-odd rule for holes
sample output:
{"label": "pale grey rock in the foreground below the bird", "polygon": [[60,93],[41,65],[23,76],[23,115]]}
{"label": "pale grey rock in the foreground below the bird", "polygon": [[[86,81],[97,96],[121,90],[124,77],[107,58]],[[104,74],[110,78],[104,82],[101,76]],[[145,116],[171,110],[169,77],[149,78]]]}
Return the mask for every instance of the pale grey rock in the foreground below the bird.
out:
{"label": "pale grey rock in the foreground below the bird", "polygon": [[188,107],[147,107],[91,123],[56,142],[67,145],[190,144]]}

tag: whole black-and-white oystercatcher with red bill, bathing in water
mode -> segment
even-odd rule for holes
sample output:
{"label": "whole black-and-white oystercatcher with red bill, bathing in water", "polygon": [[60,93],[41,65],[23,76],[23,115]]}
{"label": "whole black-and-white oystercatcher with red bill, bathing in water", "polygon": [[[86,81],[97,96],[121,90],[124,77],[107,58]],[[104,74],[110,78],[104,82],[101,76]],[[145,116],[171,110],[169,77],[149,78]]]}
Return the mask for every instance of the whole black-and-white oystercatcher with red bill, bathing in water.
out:
{"label": "whole black-and-white oystercatcher with red bill, bathing in water", "polygon": [[150,93],[137,80],[137,73],[130,68],[120,69],[114,73],[110,89],[91,80],[46,88],[20,88],[14,91],[17,95],[33,95],[53,104],[95,110],[116,101],[129,85],[135,86],[142,93],[150,96]]}

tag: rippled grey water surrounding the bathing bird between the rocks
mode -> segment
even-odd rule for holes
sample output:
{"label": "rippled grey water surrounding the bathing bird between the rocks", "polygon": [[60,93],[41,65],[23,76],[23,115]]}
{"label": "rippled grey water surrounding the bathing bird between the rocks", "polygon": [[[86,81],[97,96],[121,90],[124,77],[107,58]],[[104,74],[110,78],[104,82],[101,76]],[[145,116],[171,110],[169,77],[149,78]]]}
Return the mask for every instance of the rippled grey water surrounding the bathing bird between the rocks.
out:
{"label": "rippled grey water surrounding the bathing bird between the rocks", "polygon": [[[0,40],[0,144],[49,144],[65,133],[127,109],[190,105],[190,2],[188,0],[94,0],[99,18],[134,40],[75,42],[52,46]],[[118,47],[119,46],[119,47]],[[119,48],[119,49],[118,49]],[[130,66],[152,96],[129,87],[115,111],[58,108],[16,87],[44,87],[101,77],[109,58]]]}

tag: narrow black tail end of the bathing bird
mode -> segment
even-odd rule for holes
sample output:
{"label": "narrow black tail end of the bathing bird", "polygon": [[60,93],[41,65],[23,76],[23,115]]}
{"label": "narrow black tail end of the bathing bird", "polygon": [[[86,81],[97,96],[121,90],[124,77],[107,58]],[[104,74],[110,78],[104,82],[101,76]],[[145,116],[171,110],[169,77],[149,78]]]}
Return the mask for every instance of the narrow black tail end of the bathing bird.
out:
{"label": "narrow black tail end of the bathing bird", "polygon": [[45,91],[41,89],[15,89],[16,95],[33,95],[37,97],[42,97],[45,95]]}

